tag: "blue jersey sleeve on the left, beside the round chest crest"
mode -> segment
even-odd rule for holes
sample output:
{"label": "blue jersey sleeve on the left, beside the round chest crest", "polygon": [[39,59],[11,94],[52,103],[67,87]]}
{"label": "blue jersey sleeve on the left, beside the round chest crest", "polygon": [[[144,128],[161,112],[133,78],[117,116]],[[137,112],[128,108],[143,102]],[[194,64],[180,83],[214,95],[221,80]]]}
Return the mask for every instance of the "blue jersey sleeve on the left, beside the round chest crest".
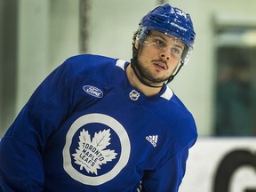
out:
{"label": "blue jersey sleeve on the left, beside the round chest crest", "polygon": [[0,141],[0,185],[4,191],[43,191],[42,154],[46,140],[70,112],[70,77],[67,63],[46,77]]}

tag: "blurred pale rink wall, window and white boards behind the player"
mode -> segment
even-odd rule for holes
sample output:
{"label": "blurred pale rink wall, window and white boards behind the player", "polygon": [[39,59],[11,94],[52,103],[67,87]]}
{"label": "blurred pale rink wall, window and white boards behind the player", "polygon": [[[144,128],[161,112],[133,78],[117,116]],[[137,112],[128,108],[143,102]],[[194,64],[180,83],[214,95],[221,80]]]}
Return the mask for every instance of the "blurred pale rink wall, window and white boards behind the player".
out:
{"label": "blurred pale rink wall, window and white boards behind the player", "polygon": [[[140,19],[164,3],[188,12],[196,30],[188,65],[169,84],[199,132],[180,191],[255,192],[255,0],[0,0],[0,138],[38,84],[68,57],[89,52],[131,60]],[[223,183],[222,161],[237,150],[237,159],[245,156],[241,149],[252,158],[237,160],[234,172],[244,164],[249,171],[230,173]]]}

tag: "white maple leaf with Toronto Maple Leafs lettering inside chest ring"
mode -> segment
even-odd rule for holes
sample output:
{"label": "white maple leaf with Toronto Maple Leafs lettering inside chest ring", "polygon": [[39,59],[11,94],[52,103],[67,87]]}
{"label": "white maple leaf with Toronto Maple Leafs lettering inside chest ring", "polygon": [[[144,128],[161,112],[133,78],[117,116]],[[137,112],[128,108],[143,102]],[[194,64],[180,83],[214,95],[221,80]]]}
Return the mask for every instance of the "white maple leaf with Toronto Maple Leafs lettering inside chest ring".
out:
{"label": "white maple leaf with Toronto Maple Leafs lettering inside chest ring", "polygon": [[91,135],[88,131],[80,132],[79,147],[76,153],[72,154],[75,163],[80,165],[80,170],[83,168],[86,172],[98,175],[97,170],[100,169],[102,164],[107,164],[116,158],[117,153],[115,150],[107,149],[110,144],[110,129],[95,132],[91,141]]}

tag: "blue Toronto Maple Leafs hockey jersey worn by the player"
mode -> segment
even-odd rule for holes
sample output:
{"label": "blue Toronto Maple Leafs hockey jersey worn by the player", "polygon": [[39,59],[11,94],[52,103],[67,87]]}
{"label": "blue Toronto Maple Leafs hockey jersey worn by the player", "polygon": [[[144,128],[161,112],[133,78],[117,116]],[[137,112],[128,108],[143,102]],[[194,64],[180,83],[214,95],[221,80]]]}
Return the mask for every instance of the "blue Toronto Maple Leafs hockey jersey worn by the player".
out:
{"label": "blue Toronto Maple Leafs hockey jersey worn by the player", "polygon": [[194,118],[168,86],[132,87],[128,64],[78,55],[46,77],[0,142],[4,191],[178,191]]}

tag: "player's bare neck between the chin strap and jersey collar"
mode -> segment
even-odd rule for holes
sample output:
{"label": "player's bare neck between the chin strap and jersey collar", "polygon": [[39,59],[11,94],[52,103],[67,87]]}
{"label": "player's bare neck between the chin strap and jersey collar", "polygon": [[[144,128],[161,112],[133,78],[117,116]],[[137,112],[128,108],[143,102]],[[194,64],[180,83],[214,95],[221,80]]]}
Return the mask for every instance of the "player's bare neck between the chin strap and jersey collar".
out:
{"label": "player's bare neck between the chin strap and jersey collar", "polygon": [[149,87],[145,84],[142,84],[138,77],[134,74],[133,69],[131,68],[131,65],[129,65],[126,68],[126,75],[128,77],[128,80],[130,84],[132,84],[133,87],[137,88],[140,90],[140,92],[143,92],[146,96],[154,96],[158,92],[161,91],[161,87]]}

